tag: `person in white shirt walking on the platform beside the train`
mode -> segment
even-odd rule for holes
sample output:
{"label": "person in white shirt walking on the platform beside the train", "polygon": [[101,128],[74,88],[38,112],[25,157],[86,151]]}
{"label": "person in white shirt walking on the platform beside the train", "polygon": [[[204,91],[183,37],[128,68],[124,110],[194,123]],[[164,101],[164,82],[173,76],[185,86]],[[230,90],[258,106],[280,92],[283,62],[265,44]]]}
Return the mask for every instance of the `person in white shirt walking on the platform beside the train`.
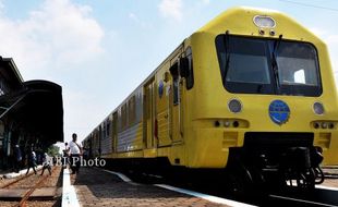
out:
{"label": "person in white shirt walking on the platform beside the train", "polygon": [[72,134],[73,141],[69,143],[69,150],[71,154],[71,169],[72,169],[72,174],[79,173],[80,170],[80,159],[83,153],[83,148],[81,143],[76,143],[77,135],[75,133]]}

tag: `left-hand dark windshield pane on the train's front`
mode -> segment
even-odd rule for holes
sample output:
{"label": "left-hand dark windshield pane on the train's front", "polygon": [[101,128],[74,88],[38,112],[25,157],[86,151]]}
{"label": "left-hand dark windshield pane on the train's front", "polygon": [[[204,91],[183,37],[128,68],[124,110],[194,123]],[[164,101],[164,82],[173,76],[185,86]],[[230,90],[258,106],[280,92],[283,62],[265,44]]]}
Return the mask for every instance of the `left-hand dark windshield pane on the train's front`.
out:
{"label": "left-hand dark windshield pane on the train's front", "polygon": [[219,35],[216,48],[222,83],[228,92],[274,94],[265,40]]}

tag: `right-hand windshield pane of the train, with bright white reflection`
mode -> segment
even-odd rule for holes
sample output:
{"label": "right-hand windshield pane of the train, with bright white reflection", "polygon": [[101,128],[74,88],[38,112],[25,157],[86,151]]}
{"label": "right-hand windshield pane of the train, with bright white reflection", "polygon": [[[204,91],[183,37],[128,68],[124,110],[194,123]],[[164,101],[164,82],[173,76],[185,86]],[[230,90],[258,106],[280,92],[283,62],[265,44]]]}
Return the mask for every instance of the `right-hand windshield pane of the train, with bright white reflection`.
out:
{"label": "right-hand windshield pane of the train, with bright white reflection", "polygon": [[317,51],[313,45],[281,41],[276,57],[280,94],[319,96],[322,94]]}

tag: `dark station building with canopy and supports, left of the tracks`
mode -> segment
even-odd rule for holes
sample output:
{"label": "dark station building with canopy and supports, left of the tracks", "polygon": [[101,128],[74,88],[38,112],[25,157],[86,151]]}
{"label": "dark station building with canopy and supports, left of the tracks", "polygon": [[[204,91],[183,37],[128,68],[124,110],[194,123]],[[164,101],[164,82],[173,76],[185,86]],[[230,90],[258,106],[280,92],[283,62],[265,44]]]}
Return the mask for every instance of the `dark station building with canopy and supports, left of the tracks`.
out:
{"label": "dark station building with canopy and supports, left of the tracks", "polygon": [[63,141],[61,86],[48,81],[25,82],[13,59],[0,57],[0,170],[13,165],[19,145],[23,160],[28,149],[45,153]]}

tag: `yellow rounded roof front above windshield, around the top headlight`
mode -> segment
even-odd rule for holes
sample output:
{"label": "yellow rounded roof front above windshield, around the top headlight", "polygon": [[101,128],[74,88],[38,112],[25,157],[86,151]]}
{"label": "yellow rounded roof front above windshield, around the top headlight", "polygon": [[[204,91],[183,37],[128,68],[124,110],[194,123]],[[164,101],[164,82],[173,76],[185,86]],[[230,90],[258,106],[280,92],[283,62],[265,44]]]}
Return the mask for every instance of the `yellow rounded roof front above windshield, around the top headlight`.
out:
{"label": "yellow rounded roof front above windshield, around the top headlight", "polygon": [[[275,21],[275,25],[270,28],[259,27],[254,21],[255,16],[270,17]],[[269,33],[261,35],[259,28],[273,29],[276,35],[271,36]],[[278,38],[279,35],[282,35],[283,39],[324,44],[323,40],[306,27],[281,12],[249,7],[231,8],[202,26],[196,33],[218,35],[226,33],[227,31],[234,35],[268,38]]]}

